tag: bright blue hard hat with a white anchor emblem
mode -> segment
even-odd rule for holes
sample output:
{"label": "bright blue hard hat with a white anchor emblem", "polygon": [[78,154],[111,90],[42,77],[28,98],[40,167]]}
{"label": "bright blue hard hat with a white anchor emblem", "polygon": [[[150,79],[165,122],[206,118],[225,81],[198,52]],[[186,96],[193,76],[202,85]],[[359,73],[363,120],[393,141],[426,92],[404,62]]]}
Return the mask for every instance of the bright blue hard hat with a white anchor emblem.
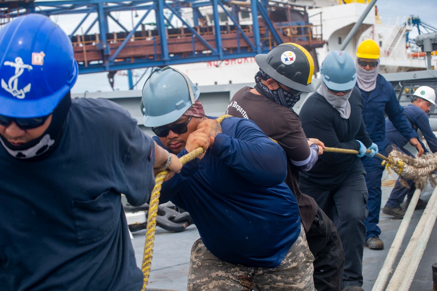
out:
{"label": "bright blue hard hat with a white anchor emblem", "polygon": [[0,114],[50,114],[77,79],[70,39],[49,17],[26,14],[0,30]]}

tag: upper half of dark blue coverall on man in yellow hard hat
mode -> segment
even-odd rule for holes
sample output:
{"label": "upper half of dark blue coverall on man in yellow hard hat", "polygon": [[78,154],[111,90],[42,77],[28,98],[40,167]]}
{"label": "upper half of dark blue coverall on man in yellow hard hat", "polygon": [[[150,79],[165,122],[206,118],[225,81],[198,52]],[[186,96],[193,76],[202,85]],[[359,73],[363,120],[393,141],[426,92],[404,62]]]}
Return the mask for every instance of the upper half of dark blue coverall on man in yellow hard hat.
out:
{"label": "upper half of dark blue coverall on man in yellow hard hat", "polygon": [[[358,83],[356,84],[358,87]],[[379,149],[385,148],[385,115],[392,121],[395,128],[407,139],[417,136],[406,120],[402,106],[396,98],[393,86],[378,74],[376,87],[370,92],[361,90],[363,98],[363,120],[366,130]]]}

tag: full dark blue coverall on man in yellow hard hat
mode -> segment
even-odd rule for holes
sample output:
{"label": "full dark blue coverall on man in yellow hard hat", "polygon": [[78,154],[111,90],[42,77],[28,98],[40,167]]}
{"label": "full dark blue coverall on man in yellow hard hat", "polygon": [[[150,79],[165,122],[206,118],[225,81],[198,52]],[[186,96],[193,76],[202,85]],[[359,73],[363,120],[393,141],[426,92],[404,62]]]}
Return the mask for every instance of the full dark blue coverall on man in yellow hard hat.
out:
{"label": "full dark blue coverall on man in yellow hard hat", "polygon": [[[355,85],[358,87],[358,83]],[[366,131],[371,140],[378,145],[378,149],[386,147],[385,142],[385,114],[392,121],[395,128],[406,137],[411,139],[417,137],[417,133],[411,128],[406,120],[404,110],[399,104],[393,86],[383,76],[378,74],[376,87],[370,92],[361,90],[363,97],[363,120]],[[368,217],[365,220],[367,228],[366,240],[371,237],[378,237],[381,229],[378,227],[379,211],[381,209],[381,178],[384,166],[381,165],[382,159],[377,157],[364,156],[362,158],[364,169],[366,170],[366,184],[369,192],[367,208]]]}

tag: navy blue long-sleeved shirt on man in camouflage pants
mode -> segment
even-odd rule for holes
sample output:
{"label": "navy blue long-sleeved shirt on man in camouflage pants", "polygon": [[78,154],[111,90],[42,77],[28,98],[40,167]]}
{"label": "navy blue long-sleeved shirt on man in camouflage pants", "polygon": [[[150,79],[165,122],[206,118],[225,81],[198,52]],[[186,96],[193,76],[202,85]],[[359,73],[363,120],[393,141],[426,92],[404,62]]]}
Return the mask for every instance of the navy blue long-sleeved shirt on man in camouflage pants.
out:
{"label": "navy blue long-sleeved shirt on man in camouflage pants", "polygon": [[245,118],[225,119],[222,132],[203,159],[163,184],[160,200],[188,211],[220,260],[277,267],[300,233],[298,204],[284,183],[285,152]]}

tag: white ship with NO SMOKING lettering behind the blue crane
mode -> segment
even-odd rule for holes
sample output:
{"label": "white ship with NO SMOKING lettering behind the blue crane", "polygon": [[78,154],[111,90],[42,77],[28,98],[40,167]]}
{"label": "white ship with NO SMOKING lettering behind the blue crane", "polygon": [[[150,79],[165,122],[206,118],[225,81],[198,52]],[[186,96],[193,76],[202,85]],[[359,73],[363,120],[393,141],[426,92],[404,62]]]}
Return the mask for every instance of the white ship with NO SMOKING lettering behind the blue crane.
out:
{"label": "white ship with NO SMOKING lettering behind the blue crane", "polygon": [[[357,22],[360,15],[368,5],[367,0],[296,0],[292,4],[277,3],[283,7],[284,19],[289,25],[282,30],[284,35],[292,35],[292,41],[305,37],[299,33],[296,24],[303,21],[299,10],[305,11],[305,19],[308,21],[312,35],[319,35],[325,45],[315,49],[316,59],[321,63],[325,56],[333,50],[340,49],[347,34]],[[209,15],[204,8],[205,15]],[[252,21],[250,14],[242,14],[245,23]],[[209,18],[207,17],[208,21]],[[242,19],[242,20],[243,20]],[[349,42],[345,51],[354,56],[358,44],[364,39],[375,40],[381,49],[380,72],[397,73],[425,69],[425,57],[419,48],[407,47],[407,35],[414,29],[413,16],[391,16],[379,14],[378,8],[372,7],[371,12],[364,18],[354,38]],[[224,17],[220,24],[229,23]],[[293,25],[295,24],[295,25]],[[431,67],[437,67],[437,59],[433,58]],[[228,84],[228,83],[252,83],[253,76],[258,66],[253,58],[227,59],[224,61],[200,62],[184,66],[178,69],[199,81],[200,85]],[[315,72],[318,70],[316,69]]]}

